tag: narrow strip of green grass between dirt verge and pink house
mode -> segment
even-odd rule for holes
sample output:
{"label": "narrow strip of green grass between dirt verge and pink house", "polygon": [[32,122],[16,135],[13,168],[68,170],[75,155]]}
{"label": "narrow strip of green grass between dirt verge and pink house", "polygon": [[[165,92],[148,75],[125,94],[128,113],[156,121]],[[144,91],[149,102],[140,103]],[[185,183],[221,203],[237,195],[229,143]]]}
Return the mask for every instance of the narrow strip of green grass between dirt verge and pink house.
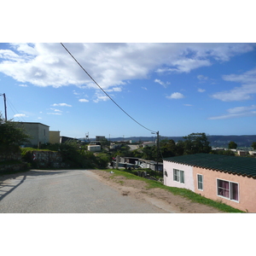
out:
{"label": "narrow strip of green grass between dirt verge and pink house", "polygon": [[221,201],[213,201],[213,200],[208,199],[202,195],[198,195],[189,189],[179,189],[179,188],[175,188],[175,187],[167,187],[163,183],[160,183],[160,182],[157,182],[154,180],[149,180],[144,177],[138,177],[132,173],[125,172],[125,171],[119,171],[116,169],[111,169],[111,170],[108,169],[108,170],[102,170],[102,171],[104,171],[104,172],[113,171],[114,173],[111,177],[124,176],[129,179],[142,180],[145,183],[148,183],[147,189],[154,189],[154,188],[166,189],[167,191],[171,192],[173,195],[181,195],[184,198],[189,199],[190,201],[201,203],[201,204],[207,205],[209,207],[214,207],[222,212],[243,212],[234,207],[230,207]]}

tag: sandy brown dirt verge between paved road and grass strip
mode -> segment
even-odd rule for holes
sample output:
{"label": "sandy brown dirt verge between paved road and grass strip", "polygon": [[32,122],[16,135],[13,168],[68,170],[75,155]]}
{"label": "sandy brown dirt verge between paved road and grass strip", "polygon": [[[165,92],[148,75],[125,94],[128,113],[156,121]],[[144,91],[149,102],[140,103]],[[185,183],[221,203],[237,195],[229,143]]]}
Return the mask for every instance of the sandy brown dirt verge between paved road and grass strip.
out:
{"label": "sandy brown dirt verge between paved road and grass strip", "polygon": [[175,213],[223,213],[213,207],[189,201],[183,196],[172,195],[165,189],[146,189],[147,183],[139,180],[128,179],[123,176],[112,177],[109,172],[90,170],[96,174],[96,178],[107,183],[115,189],[119,189],[124,196],[132,196],[138,200],[148,201],[166,212]]}

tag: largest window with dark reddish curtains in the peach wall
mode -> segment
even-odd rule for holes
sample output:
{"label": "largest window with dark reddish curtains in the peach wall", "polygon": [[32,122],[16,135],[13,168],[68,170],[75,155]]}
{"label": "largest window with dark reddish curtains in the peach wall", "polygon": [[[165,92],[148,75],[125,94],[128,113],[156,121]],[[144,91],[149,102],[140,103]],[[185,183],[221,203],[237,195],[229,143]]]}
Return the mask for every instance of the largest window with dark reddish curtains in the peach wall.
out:
{"label": "largest window with dark reddish curtains in the peach wall", "polygon": [[217,193],[227,199],[238,201],[238,183],[217,179]]}

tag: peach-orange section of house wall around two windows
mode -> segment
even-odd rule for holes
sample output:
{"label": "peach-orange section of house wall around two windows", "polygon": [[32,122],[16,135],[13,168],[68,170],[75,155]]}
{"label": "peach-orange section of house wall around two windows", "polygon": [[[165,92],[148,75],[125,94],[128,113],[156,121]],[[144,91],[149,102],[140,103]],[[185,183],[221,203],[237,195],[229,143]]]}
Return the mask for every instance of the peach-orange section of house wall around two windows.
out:
{"label": "peach-orange section of house wall around two windows", "polygon": [[[197,189],[197,174],[203,175],[203,191]],[[195,193],[215,201],[221,200],[230,207],[235,207],[241,211],[256,212],[256,179],[224,172],[216,172],[199,167],[193,168],[193,176]],[[217,195],[217,179],[239,183],[238,202],[230,201],[229,199]]]}

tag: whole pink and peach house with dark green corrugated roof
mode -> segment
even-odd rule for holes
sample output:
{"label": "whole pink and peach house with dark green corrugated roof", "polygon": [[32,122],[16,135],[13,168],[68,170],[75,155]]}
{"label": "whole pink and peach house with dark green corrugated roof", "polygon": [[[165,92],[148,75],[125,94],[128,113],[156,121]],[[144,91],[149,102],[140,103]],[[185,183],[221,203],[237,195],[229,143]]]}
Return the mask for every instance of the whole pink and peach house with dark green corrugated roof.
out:
{"label": "whole pink and peach house with dark green corrugated roof", "polygon": [[166,186],[190,189],[242,211],[256,212],[256,159],[187,154],[163,159]]}

